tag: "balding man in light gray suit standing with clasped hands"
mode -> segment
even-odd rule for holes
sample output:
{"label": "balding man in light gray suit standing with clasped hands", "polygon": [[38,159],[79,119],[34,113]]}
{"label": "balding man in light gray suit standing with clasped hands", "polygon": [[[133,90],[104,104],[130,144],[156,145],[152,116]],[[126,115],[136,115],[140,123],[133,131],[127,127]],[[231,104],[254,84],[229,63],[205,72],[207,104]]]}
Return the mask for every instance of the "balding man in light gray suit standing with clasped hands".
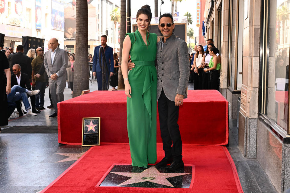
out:
{"label": "balding man in light gray suit standing with clasped hands", "polygon": [[58,47],[58,40],[51,38],[49,48],[44,55],[44,68],[49,76],[48,86],[50,88],[54,113],[49,118],[57,117],[57,103],[63,101],[63,91],[66,87],[66,67],[68,57],[65,50]]}

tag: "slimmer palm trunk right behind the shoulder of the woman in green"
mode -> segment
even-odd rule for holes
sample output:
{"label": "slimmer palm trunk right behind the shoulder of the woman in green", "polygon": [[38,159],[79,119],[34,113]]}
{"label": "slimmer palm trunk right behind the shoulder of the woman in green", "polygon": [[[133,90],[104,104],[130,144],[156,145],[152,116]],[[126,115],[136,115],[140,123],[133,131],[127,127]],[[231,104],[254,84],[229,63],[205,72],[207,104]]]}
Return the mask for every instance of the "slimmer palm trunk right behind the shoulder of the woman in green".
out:
{"label": "slimmer palm trunk right behind the shoulder of the woman in green", "polygon": [[[121,0],[121,18],[120,18],[120,61],[122,63],[122,49],[123,49],[123,41],[126,34],[126,0]],[[119,68],[119,76],[118,76],[118,89],[124,89],[124,79],[122,75],[122,70]]]}

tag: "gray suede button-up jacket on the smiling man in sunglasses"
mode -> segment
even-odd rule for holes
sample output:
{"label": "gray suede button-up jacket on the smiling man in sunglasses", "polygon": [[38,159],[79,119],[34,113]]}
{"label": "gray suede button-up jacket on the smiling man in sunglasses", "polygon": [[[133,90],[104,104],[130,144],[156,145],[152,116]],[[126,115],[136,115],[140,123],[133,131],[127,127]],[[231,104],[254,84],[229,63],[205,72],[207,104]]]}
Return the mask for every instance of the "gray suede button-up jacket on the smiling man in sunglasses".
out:
{"label": "gray suede button-up jacket on the smiling man in sunglasses", "polygon": [[190,65],[188,48],[184,40],[179,39],[173,33],[166,43],[157,43],[157,99],[162,88],[169,100],[174,101],[176,94],[187,98],[187,84]]}

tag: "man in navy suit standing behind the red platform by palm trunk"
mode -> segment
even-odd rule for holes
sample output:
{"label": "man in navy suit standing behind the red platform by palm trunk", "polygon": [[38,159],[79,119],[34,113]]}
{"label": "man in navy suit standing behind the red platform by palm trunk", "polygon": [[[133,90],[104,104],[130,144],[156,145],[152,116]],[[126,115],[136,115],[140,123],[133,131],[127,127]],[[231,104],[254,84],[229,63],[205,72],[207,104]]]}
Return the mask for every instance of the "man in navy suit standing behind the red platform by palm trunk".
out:
{"label": "man in navy suit standing behind the red platform by palm trunk", "polygon": [[[114,74],[114,57],[113,57],[113,48],[110,46],[107,46],[107,36],[102,35],[101,36],[101,45],[104,48],[105,51],[105,57],[108,65],[108,70],[110,71],[110,76]],[[102,69],[100,67],[100,61],[99,61],[99,49],[100,46],[95,47],[94,57],[93,57],[93,76],[97,78],[98,81],[98,90],[102,90]],[[101,56],[102,57],[102,56]],[[110,65],[111,63],[111,65]],[[108,81],[107,77],[107,81]]]}

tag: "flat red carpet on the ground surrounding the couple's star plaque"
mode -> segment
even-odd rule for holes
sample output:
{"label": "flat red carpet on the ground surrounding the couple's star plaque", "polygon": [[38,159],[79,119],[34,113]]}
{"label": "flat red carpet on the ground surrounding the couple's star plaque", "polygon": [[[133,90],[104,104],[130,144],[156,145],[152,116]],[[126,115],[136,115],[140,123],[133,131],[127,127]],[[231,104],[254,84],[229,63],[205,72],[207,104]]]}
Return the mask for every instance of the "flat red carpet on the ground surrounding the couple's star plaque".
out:
{"label": "flat red carpet on the ground surrounding the couple's star plaque", "polygon": [[[131,188],[96,186],[114,163],[130,164],[129,144],[101,143],[91,147],[79,160],[53,181],[42,193],[127,193],[195,192],[242,193],[237,170],[224,146],[183,145],[185,165],[194,165],[192,188]],[[157,161],[163,157],[157,144]],[[118,156],[116,156],[118,155]]]}

